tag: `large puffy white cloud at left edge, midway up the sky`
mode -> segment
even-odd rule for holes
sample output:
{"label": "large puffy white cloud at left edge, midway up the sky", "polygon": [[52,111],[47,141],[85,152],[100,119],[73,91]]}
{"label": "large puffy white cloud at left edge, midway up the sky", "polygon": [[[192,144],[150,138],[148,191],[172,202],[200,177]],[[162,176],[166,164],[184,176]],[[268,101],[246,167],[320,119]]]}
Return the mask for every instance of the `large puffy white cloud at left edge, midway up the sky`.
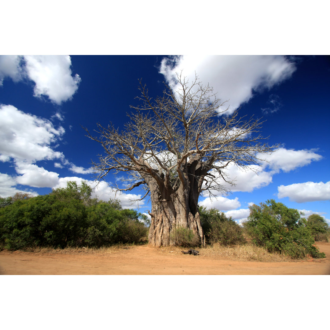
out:
{"label": "large puffy white cloud at left edge, midway up the sky", "polygon": [[2,161],[11,157],[29,162],[64,157],[50,146],[64,134],[62,126],[56,129],[49,120],[25,114],[12,105],[0,105],[0,118]]}

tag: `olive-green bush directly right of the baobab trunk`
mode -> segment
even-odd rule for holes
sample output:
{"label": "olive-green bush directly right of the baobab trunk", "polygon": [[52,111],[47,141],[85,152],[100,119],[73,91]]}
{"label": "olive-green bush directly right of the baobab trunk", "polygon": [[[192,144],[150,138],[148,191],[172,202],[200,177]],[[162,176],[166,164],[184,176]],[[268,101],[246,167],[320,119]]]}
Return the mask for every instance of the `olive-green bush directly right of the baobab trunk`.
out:
{"label": "olive-green bush directly right of the baobab trunk", "polygon": [[219,212],[215,208],[207,210],[205,207],[200,207],[199,215],[208,243],[231,246],[246,242],[239,224],[231,217],[226,217],[223,212]]}

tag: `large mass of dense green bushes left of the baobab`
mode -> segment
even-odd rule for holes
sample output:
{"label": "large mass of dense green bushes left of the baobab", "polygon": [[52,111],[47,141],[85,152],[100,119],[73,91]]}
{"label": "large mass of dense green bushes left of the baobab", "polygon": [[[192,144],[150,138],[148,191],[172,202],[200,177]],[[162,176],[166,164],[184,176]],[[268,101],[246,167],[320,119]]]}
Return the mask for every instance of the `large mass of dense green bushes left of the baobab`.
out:
{"label": "large mass of dense green bushes left of the baobab", "polygon": [[0,246],[109,246],[146,241],[146,216],[123,210],[117,200],[91,199],[86,182],[68,182],[50,194],[16,200],[0,209]]}

